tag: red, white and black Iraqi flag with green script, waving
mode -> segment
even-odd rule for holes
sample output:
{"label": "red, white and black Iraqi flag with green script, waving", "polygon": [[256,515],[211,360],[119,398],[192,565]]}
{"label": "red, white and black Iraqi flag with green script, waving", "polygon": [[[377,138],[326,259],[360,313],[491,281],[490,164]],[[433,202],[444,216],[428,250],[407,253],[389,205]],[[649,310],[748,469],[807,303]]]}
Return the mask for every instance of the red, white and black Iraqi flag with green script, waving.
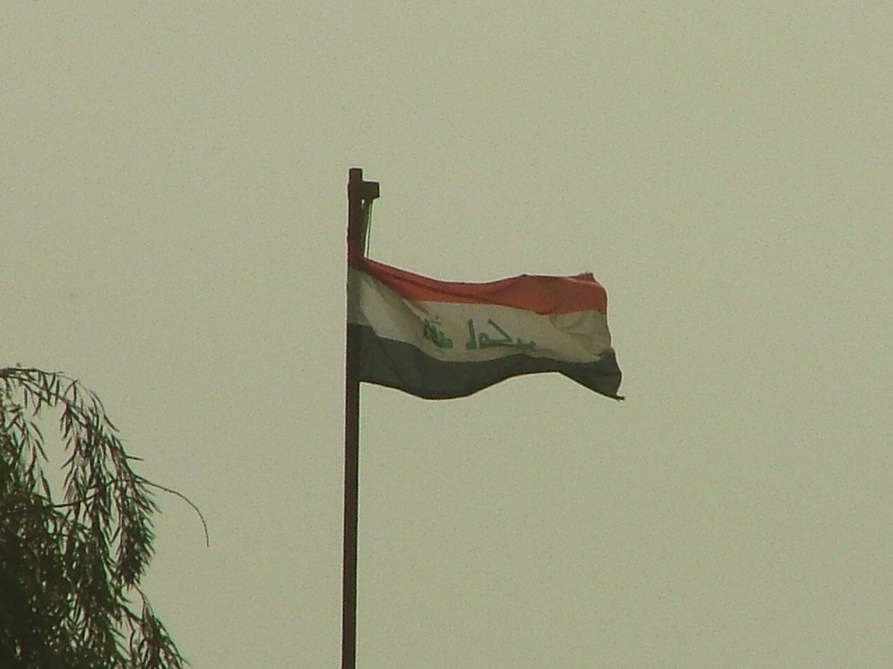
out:
{"label": "red, white and black Iraqi flag with green script, waving", "polygon": [[607,293],[592,274],[467,284],[351,256],[347,327],[361,381],[446,400],[558,372],[622,399]]}

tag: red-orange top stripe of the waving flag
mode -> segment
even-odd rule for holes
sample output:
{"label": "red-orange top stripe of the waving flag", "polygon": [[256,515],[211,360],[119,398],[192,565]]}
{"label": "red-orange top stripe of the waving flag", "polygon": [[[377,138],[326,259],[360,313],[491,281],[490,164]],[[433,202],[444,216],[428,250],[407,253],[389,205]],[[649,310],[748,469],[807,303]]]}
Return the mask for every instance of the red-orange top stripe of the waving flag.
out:
{"label": "red-orange top stripe of the waving flag", "polygon": [[351,254],[350,264],[388,286],[406,300],[498,304],[538,314],[566,314],[597,310],[607,313],[607,293],[590,272],[575,277],[522,275],[466,284],[438,281],[376,260]]}

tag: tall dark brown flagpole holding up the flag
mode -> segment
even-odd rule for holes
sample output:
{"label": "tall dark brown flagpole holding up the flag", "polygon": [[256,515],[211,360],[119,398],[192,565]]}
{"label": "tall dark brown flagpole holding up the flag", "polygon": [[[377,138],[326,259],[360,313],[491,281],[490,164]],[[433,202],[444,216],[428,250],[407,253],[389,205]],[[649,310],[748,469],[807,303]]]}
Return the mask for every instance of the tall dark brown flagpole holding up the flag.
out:
{"label": "tall dark brown flagpole holding up the flag", "polygon": [[[379,196],[379,184],[363,181],[363,169],[351,168],[347,177],[347,244],[362,257],[367,213]],[[347,284],[347,311],[357,296]],[[341,599],[341,669],[356,667],[356,527],[360,491],[360,341],[346,327],[344,388],[344,585]]]}

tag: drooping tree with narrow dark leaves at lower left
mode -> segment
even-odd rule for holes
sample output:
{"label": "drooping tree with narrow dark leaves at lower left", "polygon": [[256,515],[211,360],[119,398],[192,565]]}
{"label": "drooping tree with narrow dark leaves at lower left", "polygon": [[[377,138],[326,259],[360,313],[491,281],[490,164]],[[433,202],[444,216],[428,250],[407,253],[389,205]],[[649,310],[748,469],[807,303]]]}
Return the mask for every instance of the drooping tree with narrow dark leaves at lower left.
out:
{"label": "drooping tree with narrow dark leaves at lower left", "polygon": [[[58,503],[35,423],[48,413],[59,416],[68,455]],[[117,434],[102,402],[78,381],[33,368],[0,369],[2,667],[187,664],[139,589],[153,553],[157,507],[150,488],[163,486],[133,471],[130,462],[138,458]]]}

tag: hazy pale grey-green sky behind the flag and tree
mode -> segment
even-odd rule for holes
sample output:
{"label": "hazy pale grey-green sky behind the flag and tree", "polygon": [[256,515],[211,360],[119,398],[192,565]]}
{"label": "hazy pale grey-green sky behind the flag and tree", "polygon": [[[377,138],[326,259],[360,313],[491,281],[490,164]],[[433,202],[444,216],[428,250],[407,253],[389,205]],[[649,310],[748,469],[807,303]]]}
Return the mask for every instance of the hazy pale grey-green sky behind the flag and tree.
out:
{"label": "hazy pale grey-green sky behind the flag and tree", "polygon": [[338,666],[345,181],[371,256],[592,270],[625,403],[363,389],[358,666],[893,657],[893,5],[18,3],[0,364],[100,394],[196,669]]}

